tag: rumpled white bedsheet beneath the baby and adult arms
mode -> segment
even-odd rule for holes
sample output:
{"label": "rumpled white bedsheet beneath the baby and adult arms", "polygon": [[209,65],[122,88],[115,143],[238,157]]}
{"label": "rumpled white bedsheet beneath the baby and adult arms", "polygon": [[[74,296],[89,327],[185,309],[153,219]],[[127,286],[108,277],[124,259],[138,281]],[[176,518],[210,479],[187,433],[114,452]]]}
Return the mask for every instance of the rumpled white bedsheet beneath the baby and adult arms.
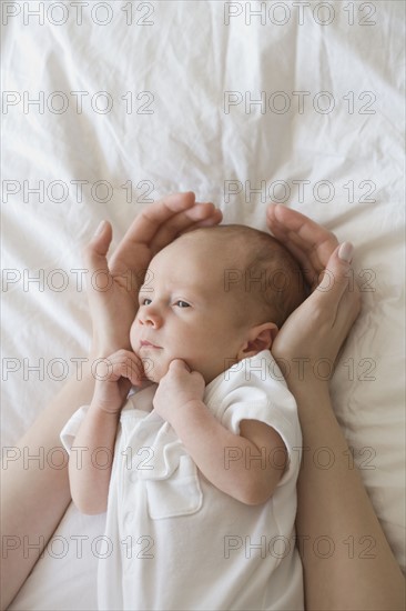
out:
{"label": "rumpled white bedsheet beneath the baby and adult arms", "polygon": [[[225,222],[260,229],[266,202],[282,201],[355,244],[363,312],[334,404],[405,568],[404,3],[1,10],[2,444],[89,347],[80,253],[102,218],[114,246],[169,192],[194,190]],[[95,608],[102,522],[71,507],[11,609]],[[349,538],[335,544],[373,553]]]}

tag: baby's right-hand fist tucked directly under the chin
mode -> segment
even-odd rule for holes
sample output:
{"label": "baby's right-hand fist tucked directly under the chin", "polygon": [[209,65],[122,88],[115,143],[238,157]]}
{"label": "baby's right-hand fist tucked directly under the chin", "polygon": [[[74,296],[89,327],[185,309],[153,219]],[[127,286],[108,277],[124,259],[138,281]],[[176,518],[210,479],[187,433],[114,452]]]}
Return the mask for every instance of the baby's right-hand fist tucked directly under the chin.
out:
{"label": "baby's right-hand fist tucked directly under the chin", "polygon": [[190,371],[184,361],[176,359],[160,381],[154,408],[161,418],[172,423],[180,409],[186,408],[191,401],[202,401],[204,385],[204,378],[199,371]]}

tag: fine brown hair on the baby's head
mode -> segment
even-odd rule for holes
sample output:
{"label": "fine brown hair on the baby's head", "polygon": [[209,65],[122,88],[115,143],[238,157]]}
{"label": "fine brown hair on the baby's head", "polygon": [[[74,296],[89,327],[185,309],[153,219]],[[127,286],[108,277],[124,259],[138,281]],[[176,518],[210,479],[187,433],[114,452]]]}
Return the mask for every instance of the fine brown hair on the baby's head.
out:
{"label": "fine brown hair on the baby's head", "polygon": [[[287,317],[305,300],[306,284],[290,251],[275,238],[242,224],[222,224],[189,233],[210,232],[230,249],[232,267],[224,272],[224,290],[240,289],[257,323],[275,322],[281,329]],[[235,257],[234,257],[235,256]]]}

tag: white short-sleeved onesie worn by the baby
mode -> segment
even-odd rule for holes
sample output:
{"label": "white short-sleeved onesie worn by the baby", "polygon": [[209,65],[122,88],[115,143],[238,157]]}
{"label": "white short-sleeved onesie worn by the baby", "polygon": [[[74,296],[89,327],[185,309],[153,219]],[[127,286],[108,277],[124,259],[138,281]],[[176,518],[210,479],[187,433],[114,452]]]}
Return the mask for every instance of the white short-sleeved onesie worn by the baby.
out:
{"label": "white short-sleeved onesie worn by the baby", "polygon": [[[124,405],[112,469],[104,549],[99,550],[100,610],[302,610],[302,565],[295,548],[296,480],[302,435],[296,403],[265,350],[221,373],[204,402],[224,427],[240,433],[244,419],[273,427],[288,464],[268,501],[246,505],[199,471],[172,427],[152,408],[156,384]],[[69,449],[87,408],[61,438]],[[274,461],[282,453],[232,461]],[[101,558],[105,557],[105,558]]]}

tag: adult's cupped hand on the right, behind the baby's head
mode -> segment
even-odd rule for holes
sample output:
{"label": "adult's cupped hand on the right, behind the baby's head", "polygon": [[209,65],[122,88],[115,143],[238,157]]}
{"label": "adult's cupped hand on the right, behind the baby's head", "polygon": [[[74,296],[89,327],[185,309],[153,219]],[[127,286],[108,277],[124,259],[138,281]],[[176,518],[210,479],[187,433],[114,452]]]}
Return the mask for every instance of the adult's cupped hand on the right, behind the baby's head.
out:
{"label": "adult's cupped hand on the right, behind the baby's head", "polygon": [[326,385],[328,374],[314,368],[326,359],[333,369],[338,351],[361,309],[352,276],[352,246],[338,244],[334,233],[281,204],[267,208],[267,227],[298,261],[312,289],[309,297],[283,324],[272,347],[290,387]]}

